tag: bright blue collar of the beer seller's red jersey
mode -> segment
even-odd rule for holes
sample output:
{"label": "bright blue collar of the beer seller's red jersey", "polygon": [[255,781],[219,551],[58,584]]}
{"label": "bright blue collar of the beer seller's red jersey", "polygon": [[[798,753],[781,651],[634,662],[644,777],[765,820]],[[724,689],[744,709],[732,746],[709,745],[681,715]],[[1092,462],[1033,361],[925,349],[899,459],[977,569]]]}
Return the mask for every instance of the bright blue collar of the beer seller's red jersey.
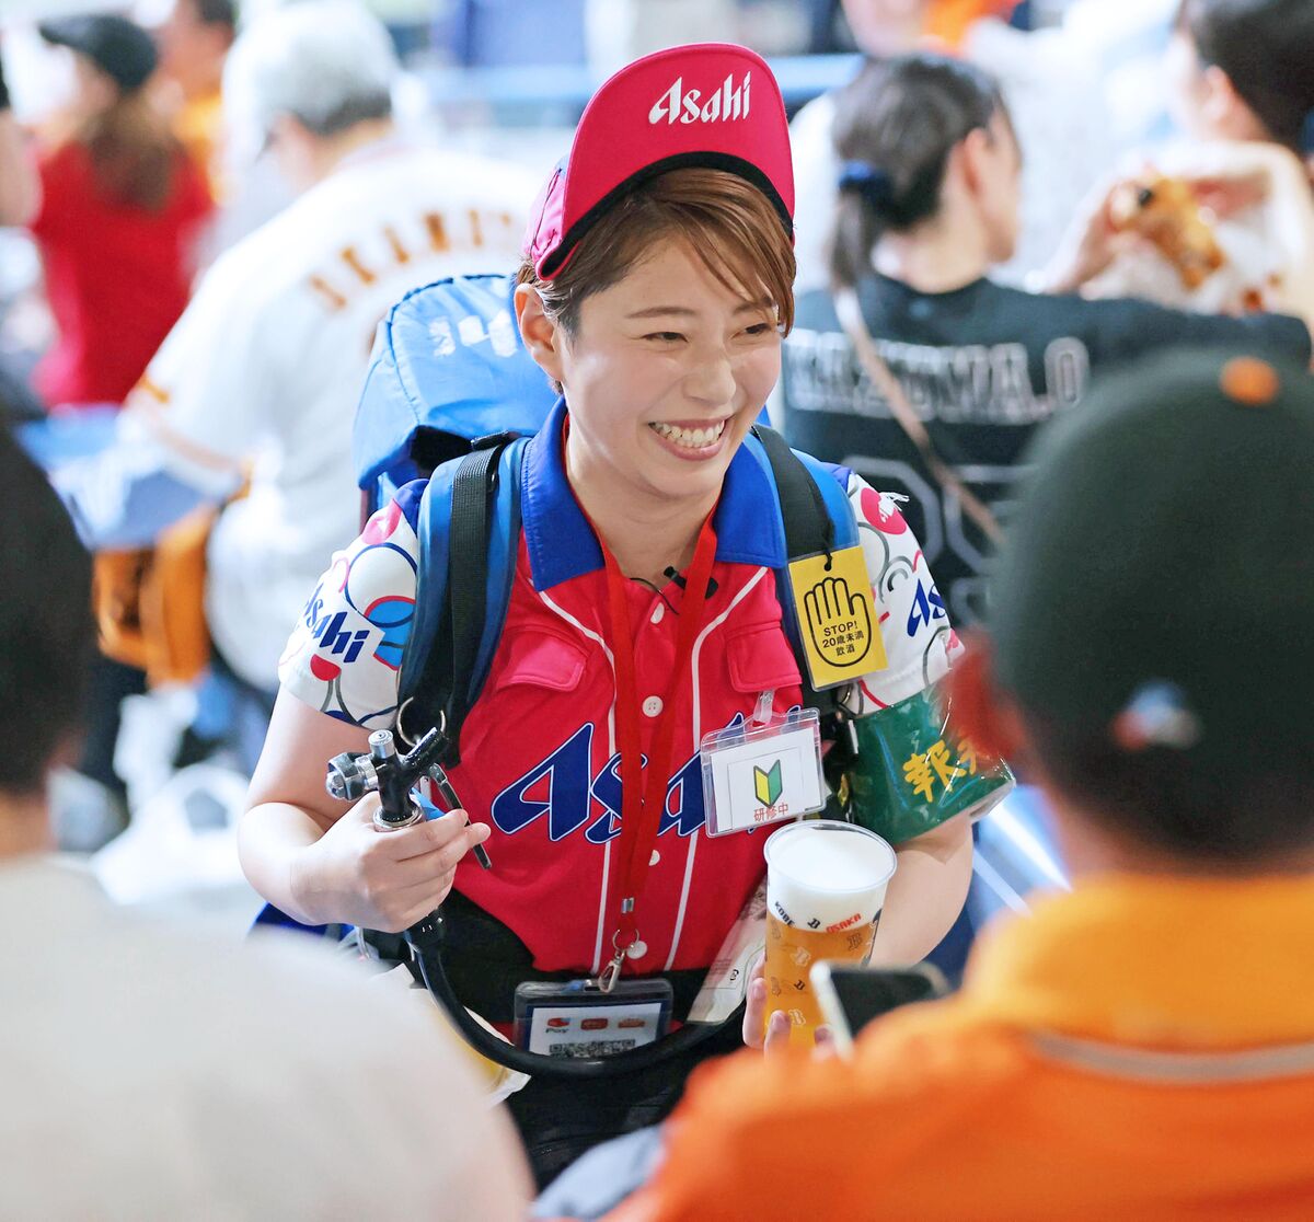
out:
{"label": "bright blue collar of the beer seller's red jersey", "polygon": [[[566,478],[562,426],[565,399],[535,434],[524,457],[520,515],[536,590],[602,568],[602,548]],[[771,477],[750,444],[740,445],[721,485],[712,516],[716,560],[781,569],[786,564],[784,528]]]}

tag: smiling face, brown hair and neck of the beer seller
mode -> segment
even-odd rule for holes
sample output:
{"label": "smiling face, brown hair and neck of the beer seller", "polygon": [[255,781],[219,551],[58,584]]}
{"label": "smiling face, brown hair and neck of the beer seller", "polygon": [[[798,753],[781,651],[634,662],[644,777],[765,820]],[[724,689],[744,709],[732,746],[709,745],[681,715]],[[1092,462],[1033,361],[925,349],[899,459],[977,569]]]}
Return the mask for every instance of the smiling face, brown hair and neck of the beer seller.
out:
{"label": "smiling face, brown hair and neck of the beer seller", "polygon": [[[665,201],[645,206],[658,191],[696,201],[708,183],[738,196],[716,225],[689,221]],[[670,565],[692,558],[698,527],[779,376],[778,318],[791,311],[792,255],[762,193],[721,171],[675,171],[644,196],[616,213],[657,225],[645,247],[631,237],[644,229],[608,217],[590,234],[587,254],[561,273],[566,284],[549,293],[532,267],[522,273],[516,309],[530,352],[565,389],[576,497],[622,570],[660,585]],[[740,219],[765,222],[757,231],[774,242],[763,243],[769,255],[759,261],[782,272],[782,283],[753,283],[749,251],[736,251],[732,239],[717,244],[736,233],[727,222]],[[600,292],[587,277],[595,243],[628,264]]]}

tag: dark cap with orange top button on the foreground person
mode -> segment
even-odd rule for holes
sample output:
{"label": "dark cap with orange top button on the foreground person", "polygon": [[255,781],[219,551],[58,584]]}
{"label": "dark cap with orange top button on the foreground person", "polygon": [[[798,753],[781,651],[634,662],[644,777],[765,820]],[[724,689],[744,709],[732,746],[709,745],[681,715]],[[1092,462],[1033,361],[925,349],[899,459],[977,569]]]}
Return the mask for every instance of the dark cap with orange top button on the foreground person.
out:
{"label": "dark cap with orange top button on the foreground person", "polygon": [[1233,775],[1314,745],[1314,378],[1176,352],[1029,452],[993,577],[999,686],[1067,741]]}

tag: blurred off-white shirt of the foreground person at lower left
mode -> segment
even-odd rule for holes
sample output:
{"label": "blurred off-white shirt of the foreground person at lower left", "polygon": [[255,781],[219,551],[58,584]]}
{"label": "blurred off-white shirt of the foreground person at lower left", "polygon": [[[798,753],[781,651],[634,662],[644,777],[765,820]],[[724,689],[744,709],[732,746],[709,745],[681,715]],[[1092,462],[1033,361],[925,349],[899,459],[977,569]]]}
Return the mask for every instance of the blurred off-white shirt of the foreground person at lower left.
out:
{"label": "blurred off-white shirt of the foreground person at lower left", "polygon": [[0,867],[0,1217],[511,1219],[528,1180],[418,1007],[269,934]]}

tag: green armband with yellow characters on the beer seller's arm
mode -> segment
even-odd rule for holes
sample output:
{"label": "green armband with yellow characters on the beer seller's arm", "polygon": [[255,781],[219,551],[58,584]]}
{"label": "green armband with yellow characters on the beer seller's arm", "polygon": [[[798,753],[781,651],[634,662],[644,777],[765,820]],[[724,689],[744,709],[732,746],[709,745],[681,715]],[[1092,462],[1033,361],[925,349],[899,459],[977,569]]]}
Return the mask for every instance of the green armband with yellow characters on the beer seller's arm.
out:
{"label": "green armband with yellow characters on the beer seller's arm", "polygon": [[979,819],[1016,782],[1003,759],[976,752],[949,724],[937,687],[854,719],[857,756],[837,798],[848,817],[897,845],[955,815]]}

